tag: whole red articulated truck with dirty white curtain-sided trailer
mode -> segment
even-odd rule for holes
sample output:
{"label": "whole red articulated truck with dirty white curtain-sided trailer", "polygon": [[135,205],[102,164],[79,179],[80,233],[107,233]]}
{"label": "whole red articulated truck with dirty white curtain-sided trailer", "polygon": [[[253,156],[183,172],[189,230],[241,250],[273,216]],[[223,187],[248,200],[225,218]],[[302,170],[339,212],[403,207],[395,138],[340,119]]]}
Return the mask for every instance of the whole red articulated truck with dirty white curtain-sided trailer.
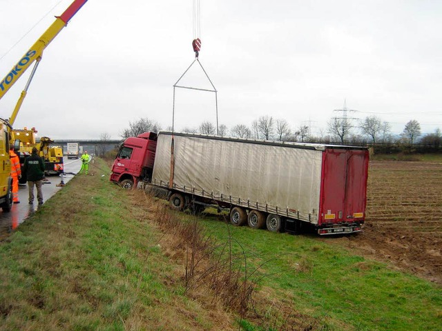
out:
{"label": "whole red articulated truck with dirty white curtain-sided trailer", "polygon": [[360,232],[368,148],[146,132],[122,143],[111,181],[142,183],[176,210],[228,208],[233,225]]}

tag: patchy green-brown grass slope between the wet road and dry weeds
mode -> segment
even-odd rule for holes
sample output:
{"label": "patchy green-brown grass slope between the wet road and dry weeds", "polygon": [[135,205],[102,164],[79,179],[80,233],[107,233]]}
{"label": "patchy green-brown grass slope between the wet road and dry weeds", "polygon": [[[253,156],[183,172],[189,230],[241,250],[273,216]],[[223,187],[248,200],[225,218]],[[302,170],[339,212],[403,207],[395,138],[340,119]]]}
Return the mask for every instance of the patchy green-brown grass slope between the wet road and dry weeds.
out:
{"label": "patchy green-brown grass slope between the wet road and dry weeds", "polygon": [[0,330],[202,330],[188,310],[209,330],[146,216],[107,177],[69,181],[0,243]]}

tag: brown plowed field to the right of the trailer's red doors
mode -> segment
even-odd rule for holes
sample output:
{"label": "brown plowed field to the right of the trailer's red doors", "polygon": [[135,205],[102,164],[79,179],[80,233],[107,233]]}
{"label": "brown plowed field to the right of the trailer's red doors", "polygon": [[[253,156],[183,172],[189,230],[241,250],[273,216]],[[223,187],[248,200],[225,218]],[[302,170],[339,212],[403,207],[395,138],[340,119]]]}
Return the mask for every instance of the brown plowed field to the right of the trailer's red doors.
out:
{"label": "brown plowed field to the right of the trailer's red doors", "polygon": [[442,284],[442,163],[371,161],[364,231],[336,241]]}

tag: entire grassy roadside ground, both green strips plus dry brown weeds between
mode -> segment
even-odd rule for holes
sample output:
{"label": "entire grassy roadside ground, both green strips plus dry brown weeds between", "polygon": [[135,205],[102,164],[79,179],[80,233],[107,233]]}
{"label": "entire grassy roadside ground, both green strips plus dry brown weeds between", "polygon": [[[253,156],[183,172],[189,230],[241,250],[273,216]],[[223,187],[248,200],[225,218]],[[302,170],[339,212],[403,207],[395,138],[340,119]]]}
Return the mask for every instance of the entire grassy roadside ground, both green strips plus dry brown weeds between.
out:
{"label": "entire grassy roadside ground, both green strips plus dry brown weeds between", "polygon": [[[201,220],[122,191],[107,175],[72,179],[0,243],[0,329],[229,330],[240,316],[246,330],[442,323],[437,285],[318,237]],[[238,264],[248,282],[235,277]]]}

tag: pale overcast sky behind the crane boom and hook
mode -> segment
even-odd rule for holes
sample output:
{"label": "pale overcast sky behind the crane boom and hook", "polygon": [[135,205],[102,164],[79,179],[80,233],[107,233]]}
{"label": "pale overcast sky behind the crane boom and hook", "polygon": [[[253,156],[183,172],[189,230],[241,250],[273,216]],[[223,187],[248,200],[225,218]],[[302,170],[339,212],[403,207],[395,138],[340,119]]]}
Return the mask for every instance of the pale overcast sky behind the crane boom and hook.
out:
{"label": "pale overcast sky behind the crane boom and hook", "polygon": [[[0,79],[72,1],[0,0]],[[269,115],[326,132],[344,99],[349,117],[376,115],[394,133],[411,119],[424,134],[442,128],[442,1],[200,2],[200,61],[229,128]],[[142,117],[171,126],[192,40],[192,0],[89,0],[46,48],[15,126],[52,139],[119,139]],[[182,83],[209,87],[196,69]],[[175,130],[202,121],[215,123],[215,95],[178,89]]]}

